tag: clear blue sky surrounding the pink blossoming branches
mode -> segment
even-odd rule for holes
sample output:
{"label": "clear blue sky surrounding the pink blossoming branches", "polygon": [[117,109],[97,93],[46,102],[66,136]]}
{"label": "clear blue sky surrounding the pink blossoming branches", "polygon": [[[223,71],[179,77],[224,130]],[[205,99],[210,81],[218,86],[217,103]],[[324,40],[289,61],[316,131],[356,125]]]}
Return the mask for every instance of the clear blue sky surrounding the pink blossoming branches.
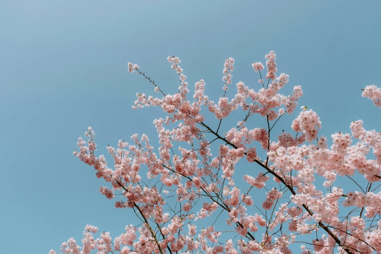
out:
{"label": "clear blue sky surrounding the pink blossoming branches", "polygon": [[[380,12],[376,0],[0,0],[0,252],[58,251],[88,223],[113,236],[134,224],[72,155],[88,126],[98,154],[133,133],[156,140],[160,110],[131,109],[137,92],[154,92],[128,61],[173,93],[179,80],[166,57],[175,54],[190,88],[203,78],[212,95],[225,58],[236,59],[233,84],[257,84],[251,64],[274,50],[321,134],[349,132],[358,119],[381,131],[380,109],[360,90],[381,86]],[[279,125],[290,128],[298,112]]]}

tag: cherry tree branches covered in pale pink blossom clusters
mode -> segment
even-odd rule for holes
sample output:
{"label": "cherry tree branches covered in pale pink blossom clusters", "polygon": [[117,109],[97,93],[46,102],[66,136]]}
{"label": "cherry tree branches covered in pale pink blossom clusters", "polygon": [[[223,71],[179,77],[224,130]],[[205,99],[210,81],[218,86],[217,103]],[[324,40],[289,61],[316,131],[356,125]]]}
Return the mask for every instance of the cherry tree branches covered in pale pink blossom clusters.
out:
{"label": "cherry tree branches covered in pale pink blossom clusters", "polygon": [[[381,133],[365,130],[358,120],[350,124],[351,134],[334,133],[328,141],[318,134],[317,113],[304,106],[290,122],[293,133],[276,133],[274,126],[297,108],[303,91],[295,86],[290,95],[281,94],[289,75],[277,75],[273,51],[265,57],[265,76],[265,66],[253,64],[259,89],[238,82],[231,100],[227,91],[234,59],[226,59],[217,103],[204,93],[203,79],[189,95],[178,57],[167,58],[181,83],[173,95],[128,63],[128,71],[142,75],[160,95],[138,93],[132,106],[163,109],[165,117],[153,121],[158,150],[145,134],[134,134],[131,145],[120,140],[118,148],[107,147],[111,168],[105,156],[95,154],[95,133],[89,127],[88,141],[79,138],[74,155],[107,182],[100,192],[115,199],[116,208],[133,209],[136,219],[114,238],[87,225],[82,246],[70,238],[61,251],[289,254],[300,248],[303,254],[381,253]],[[365,87],[363,97],[381,108],[380,88]],[[227,120],[240,113],[237,124]],[[225,133],[221,123],[230,125]],[[354,187],[337,186],[338,177],[353,181]]]}

